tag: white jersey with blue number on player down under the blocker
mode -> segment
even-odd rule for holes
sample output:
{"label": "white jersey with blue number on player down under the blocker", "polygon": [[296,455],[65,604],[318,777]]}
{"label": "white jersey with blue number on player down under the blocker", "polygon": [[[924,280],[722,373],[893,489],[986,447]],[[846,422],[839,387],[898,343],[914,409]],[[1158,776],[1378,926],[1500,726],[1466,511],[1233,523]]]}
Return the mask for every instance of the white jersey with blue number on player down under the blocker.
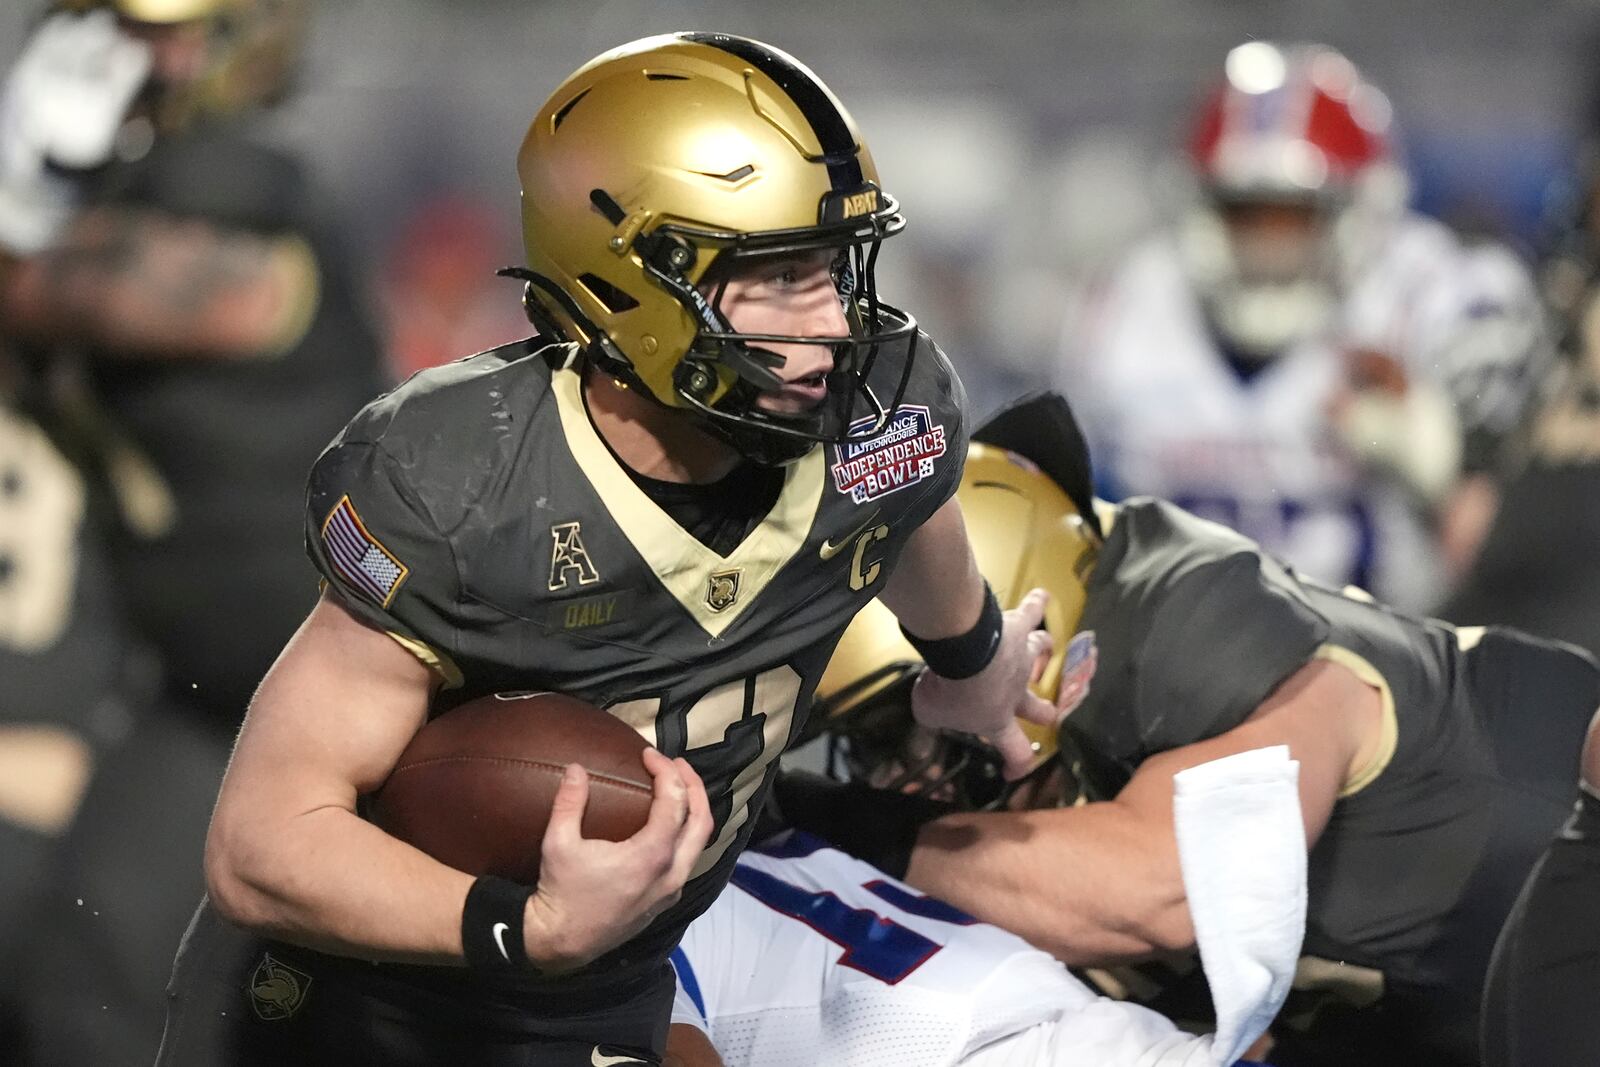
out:
{"label": "white jersey with blue number on player down under the blocker", "polygon": [[1208,1038],[800,833],[739,859],[672,963],[672,1021],[728,1067],[1213,1064]]}

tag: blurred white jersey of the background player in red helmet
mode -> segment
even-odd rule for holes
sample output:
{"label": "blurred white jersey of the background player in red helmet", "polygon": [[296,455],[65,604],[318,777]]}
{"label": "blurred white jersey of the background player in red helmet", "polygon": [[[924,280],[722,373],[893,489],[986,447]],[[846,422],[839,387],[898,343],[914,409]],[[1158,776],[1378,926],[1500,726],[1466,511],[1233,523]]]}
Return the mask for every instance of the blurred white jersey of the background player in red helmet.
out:
{"label": "blurred white jersey of the background player in red helmet", "polygon": [[1090,286],[1058,382],[1102,491],[1170,499],[1312,577],[1419,608],[1442,574],[1416,507],[1363,475],[1330,422],[1346,354],[1382,352],[1440,386],[1464,424],[1502,430],[1528,381],[1515,323],[1531,317],[1531,285],[1509,253],[1466,248],[1413,216],[1368,261],[1326,336],[1246,379],[1218,350],[1163,237]]}

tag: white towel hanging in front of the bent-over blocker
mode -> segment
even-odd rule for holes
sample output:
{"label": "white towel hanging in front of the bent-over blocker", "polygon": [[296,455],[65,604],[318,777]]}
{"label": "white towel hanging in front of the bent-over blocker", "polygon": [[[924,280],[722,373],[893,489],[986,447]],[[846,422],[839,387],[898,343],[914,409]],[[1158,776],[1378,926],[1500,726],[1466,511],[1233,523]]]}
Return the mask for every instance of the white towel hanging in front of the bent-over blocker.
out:
{"label": "white towel hanging in front of the bent-over blocker", "polygon": [[1178,857],[1211,984],[1211,1062],[1238,1059],[1288,997],[1306,936],[1306,824],[1288,745],[1179,771]]}

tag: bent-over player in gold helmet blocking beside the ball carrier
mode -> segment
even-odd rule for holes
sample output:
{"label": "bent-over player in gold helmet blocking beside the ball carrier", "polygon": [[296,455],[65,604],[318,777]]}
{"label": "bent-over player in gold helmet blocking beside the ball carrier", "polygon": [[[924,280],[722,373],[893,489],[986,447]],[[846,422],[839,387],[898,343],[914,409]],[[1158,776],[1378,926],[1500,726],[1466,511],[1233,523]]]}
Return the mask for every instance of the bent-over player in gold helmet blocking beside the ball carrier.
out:
{"label": "bent-over player in gold helmet blocking beside the ball carrier", "polygon": [[[1309,1035],[1282,1027],[1275,1062],[1477,1062],[1490,952],[1570,808],[1594,661],[1310,582],[1165,501],[1101,506],[1059,397],[974,440],[958,499],[984,573],[1053,592],[1062,758],[1040,737],[1043,784],[1011,798],[1042,809],[938,803],[1000,806],[998,779],[979,749],[909,733],[915,657],[862,614],[819,693],[856,774],[920,795],[800,777],[782,816],[1067,963],[1133,960],[1194,942],[1174,771],[1288,744],[1318,961],[1302,977],[1344,995]],[[1056,806],[1080,792],[1106,803]]]}

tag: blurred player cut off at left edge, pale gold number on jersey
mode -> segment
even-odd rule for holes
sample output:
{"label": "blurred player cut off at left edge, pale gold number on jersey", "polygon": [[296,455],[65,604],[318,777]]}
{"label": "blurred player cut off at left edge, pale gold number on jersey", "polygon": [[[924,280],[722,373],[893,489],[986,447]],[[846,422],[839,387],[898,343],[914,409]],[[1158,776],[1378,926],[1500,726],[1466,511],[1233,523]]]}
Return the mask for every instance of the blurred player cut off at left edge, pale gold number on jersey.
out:
{"label": "blurred player cut off at left edge, pale gold number on jersey", "polygon": [[0,1062],[27,1064],[34,973],[21,961],[56,840],[154,672],[117,609],[102,501],[14,370],[0,347]]}

